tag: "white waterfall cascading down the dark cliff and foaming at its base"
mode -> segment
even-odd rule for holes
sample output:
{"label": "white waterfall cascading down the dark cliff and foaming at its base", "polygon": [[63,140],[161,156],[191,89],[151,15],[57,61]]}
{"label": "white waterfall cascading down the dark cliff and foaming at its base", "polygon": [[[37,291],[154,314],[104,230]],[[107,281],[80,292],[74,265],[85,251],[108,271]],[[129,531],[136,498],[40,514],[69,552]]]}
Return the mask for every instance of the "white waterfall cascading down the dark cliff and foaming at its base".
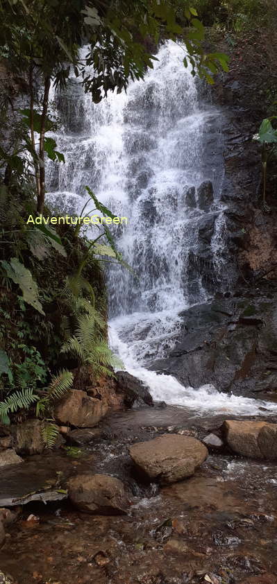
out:
{"label": "white waterfall cascading down the dark cliff and foaming at its base", "polygon": [[[198,413],[226,408],[259,413],[262,402],[228,396],[212,386],[184,388],[174,377],[145,368],[174,346],[178,313],[210,293],[201,270],[192,273],[192,257],[195,261],[201,247],[200,220],[213,222],[212,277],[220,277],[222,267],[223,164],[217,159],[215,167],[205,165],[205,129],[213,123],[218,150],[220,114],[199,105],[183,58],[183,46],[168,42],[144,82],[98,105],[72,80],[69,93],[58,98],[65,123],[56,139],[66,162],[49,165],[51,199],[67,212],[80,212],[88,184],[115,214],[128,218],[126,227],[117,227],[117,246],[137,277],[121,267],[108,273],[110,343],[153,398]],[[208,214],[187,200],[189,189],[193,199],[193,187],[204,180],[212,180],[215,191]]]}

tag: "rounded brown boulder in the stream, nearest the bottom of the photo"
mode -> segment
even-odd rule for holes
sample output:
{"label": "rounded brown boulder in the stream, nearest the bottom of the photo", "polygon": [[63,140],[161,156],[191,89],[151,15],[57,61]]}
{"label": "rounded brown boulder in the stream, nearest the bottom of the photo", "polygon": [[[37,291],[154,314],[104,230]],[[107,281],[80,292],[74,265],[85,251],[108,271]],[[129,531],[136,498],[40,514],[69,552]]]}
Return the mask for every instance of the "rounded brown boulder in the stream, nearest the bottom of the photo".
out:
{"label": "rounded brown boulder in the stream, nearest the bottom of the photo", "polygon": [[108,474],[78,474],[68,483],[69,499],[85,513],[124,515],[128,499],[124,484]]}

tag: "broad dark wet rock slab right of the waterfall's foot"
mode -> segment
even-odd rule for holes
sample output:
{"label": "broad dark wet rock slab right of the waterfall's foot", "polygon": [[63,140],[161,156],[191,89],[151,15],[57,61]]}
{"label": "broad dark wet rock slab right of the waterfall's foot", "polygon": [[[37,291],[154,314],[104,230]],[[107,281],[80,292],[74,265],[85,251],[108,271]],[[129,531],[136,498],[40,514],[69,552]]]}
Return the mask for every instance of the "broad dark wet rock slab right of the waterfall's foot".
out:
{"label": "broad dark wet rock slab right of the waterfall's foot", "polygon": [[211,384],[234,395],[260,397],[263,391],[276,391],[272,347],[277,346],[277,293],[270,287],[271,298],[264,291],[260,298],[221,295],[181,313],[174,349],[150,369],[167,371],[184,386]]}

